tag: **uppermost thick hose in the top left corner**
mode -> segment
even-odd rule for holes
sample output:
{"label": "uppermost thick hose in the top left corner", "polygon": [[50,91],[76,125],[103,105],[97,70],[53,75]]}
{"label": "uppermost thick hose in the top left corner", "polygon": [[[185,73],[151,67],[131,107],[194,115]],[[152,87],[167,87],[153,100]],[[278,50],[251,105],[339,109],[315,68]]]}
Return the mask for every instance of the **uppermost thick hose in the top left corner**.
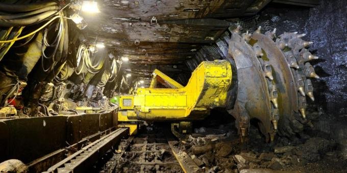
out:
{"label": "uppermost thick hose in the top left corner", "polygon": [[17,13],[28,12],[28,11],[41,9],[47,6],[56,6],[56,5],[58,5],[56,2],[31,3],[31,4],[21,4],[21,5],[0,3],[0,11],[17,12]]}

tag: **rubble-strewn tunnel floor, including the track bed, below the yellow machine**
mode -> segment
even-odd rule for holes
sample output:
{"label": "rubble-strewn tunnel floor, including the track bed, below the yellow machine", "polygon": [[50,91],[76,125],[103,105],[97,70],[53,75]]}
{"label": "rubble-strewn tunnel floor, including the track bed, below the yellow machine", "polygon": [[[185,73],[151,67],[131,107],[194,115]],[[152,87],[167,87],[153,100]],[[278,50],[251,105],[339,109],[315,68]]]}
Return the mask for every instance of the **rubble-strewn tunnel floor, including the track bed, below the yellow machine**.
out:
{"label": "rubble-strewn tunnel floor, including the track bed, below the yellow machine", "polygon": [[[317,113],[311,111],[308,115]],[[179,155],[188,156],[197,165],[199,169],[195,172],[347,171],[338,144],[329,135],[317,133],[316,128],[307,127],[296,137],[277,136],[273,142],[266,143],[252,124],[242,143],[235,121],[224,112],[214,111],[209,118],[195,124],[199,126],[194,126],[193,133],[176,138],[174,145]],[[311,126],[314,125],[317,124],[312,121]],[[172,139],[168,130],[165,124],[143,127],[136,136],[123,139],[121,147],[109,151],[93,171],[184,172],[167,144],[167,137]],[[182,164],[189,165],[189,161]]]}

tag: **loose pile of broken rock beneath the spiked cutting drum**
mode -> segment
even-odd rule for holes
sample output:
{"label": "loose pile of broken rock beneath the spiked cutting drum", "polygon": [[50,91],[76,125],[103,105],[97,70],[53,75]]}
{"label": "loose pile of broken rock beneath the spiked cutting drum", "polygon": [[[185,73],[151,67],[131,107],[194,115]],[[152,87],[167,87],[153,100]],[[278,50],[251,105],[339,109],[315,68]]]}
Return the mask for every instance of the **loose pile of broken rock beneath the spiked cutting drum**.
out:
{"label": "loose pile of broken rock beneath the spiked cutting drum", "polygon": [[301,134],[298,138],[277,138],[265,143],[253,127],[248,140],[241,143],[232,123],[195,132],[198,133],[187,136],[179,147],[205,172],[347,171],[343,166],[347,162],[336,151],[333,140]]}

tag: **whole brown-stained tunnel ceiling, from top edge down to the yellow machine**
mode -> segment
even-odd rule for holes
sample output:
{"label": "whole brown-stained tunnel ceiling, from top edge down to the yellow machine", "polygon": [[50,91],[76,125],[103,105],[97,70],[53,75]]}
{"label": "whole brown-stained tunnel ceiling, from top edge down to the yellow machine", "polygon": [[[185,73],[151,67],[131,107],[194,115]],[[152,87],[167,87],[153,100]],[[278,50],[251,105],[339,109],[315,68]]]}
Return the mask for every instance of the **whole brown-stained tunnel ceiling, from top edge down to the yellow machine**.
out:
{"label": "whole brown-stained tunnel ceiling, from top edge down to the yellow machine", "polygon": [[235,18],[254,15],[270,2],[103,0],[97,1],[100,13],[82,13],[87,23],[82,33],[129,58],[123,72],[146,78],[158,68],[171,77],[189,76],[185,62],[202,46],[214,44]]}

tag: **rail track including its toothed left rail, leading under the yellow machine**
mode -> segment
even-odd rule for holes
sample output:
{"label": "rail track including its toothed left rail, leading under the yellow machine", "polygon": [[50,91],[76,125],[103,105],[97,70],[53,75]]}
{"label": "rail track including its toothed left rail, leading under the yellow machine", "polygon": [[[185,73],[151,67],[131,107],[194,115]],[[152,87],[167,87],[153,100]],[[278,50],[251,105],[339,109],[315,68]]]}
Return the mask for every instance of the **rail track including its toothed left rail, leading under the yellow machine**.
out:
{"label": "rail track including its toothed left rail, leading under the yellow machine", "polygon": [[119,128],[91,142],[45,172],[196,172],[199,167],[169,129],[147,128],[128,136]]}

